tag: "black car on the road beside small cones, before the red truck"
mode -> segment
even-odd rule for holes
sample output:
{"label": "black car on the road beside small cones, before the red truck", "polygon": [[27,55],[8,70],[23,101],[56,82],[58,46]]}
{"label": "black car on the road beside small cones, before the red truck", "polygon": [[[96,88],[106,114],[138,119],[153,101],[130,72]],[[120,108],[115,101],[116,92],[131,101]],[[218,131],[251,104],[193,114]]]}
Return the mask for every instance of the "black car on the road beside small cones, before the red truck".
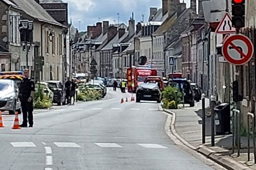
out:
{"label": "black car on the road beside small cones, before the red truck", "polygon": [[155,83],[142,83],[138,86],[136,91],[136,102],[141,100],[157,101],[160,103],[162,99],[162,93]]}

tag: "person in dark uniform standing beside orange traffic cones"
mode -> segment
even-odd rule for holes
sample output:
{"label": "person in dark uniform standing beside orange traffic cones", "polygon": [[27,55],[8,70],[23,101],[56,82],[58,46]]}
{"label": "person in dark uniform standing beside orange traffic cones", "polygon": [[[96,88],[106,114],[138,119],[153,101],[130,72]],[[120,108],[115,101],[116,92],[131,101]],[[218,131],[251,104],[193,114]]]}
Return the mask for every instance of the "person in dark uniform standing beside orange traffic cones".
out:
{"label": "person in dark uniform standing beside orange traffic cones", "polygon": [[[35,82],[29,78],[29,69],[24,69],[23,80],[20,84],[20,101],[23,114],[23,123],[20,127],[33,127],[33,100],[35,96]],[[28,119],[28,120],[27,120]]]}

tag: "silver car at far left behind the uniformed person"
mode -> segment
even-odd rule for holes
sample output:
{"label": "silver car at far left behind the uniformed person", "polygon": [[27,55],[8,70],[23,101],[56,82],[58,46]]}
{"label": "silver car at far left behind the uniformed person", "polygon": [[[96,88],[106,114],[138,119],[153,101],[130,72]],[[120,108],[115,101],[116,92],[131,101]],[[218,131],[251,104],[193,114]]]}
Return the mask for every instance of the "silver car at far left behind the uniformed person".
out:
{"label": "silver car at far left behind the uniformed person", "polygon": [[0,110],[21,113],[21,104],[18,97],[19,88],[13,80],[0,79]]}

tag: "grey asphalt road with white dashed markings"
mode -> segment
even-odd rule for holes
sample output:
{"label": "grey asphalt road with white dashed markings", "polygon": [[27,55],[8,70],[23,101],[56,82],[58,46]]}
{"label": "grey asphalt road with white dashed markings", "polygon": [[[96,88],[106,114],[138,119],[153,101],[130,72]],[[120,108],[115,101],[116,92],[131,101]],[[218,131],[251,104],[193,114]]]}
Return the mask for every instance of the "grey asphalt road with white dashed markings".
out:
{"label": "grey asphalt road with white dashed markings", "polygon": [[[165,134],[157,103],[106,99],[34,114],[34,128],[12,130],[3,114],[1,170],[210,170]],[[20,123],[22,122],[22,116]]]}

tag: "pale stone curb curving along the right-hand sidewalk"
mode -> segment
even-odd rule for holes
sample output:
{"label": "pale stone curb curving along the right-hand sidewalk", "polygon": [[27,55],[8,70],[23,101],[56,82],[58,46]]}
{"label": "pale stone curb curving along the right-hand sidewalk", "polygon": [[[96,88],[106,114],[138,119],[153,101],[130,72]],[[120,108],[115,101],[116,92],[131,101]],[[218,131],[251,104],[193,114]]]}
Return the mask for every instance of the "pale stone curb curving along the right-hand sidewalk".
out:
{"label": "pale stone curb curving along the right-hand sidewalk", "polygon": [[[160,108],[161,106],[159,106]],[[162,107],[161,107],[162,108]],[[206,156],[207,158],[213,160],[214,162],[218,163],[219,165],[225,167],[226,169],[229,170],[253,170],[241,163],[236,162],[235,160],[228,158],[228,157],[223,157],[221,156],[221,154],[219,154],[218,152],[212,150],[209,147],[206,146],[198,146],[195,147],[193,145],[191,145],[190,143],[188,143],[184,138],[182,138],[175,130],[175,121],[176,121],[176,113],[166,110],[166,109],[162,109],[165,113],[172,115],[172,120],[171,120],[171,125],[170,130],[172,132],[172,134],[178,139],[180,140],[185,146],[189,147],[190,149],[193,149],[195,151],[197,151],[198,153]],[[168,129],[165,129],[168,130]],[[166,134],[168,135],[168,133],[166,132]],[[171,138],[171,136],[169,136]]]}

